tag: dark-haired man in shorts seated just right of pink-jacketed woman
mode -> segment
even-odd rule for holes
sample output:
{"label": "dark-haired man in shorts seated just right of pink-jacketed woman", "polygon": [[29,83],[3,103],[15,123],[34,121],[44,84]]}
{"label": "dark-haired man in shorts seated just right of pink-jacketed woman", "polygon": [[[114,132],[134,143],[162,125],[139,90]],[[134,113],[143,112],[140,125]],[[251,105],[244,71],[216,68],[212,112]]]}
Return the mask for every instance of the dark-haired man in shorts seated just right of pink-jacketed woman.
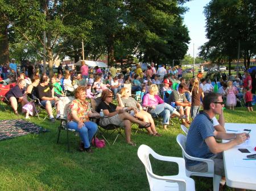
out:
{"label": "dark-haired man in shorts seated just right of pink-jacketed woman", "polygon": [[[170,96],[168,97],[167,103],[172,105],[171,103],[175,103],[175,108],[177,111],[180,113],[180,115],[185,115],[187,116],[187,119],[182,119],[182,124],[186,127],[189,127],[189,114],[190,114],[190,109],[191,109],[191,103],[187,101],[187,98],[185,97],[185,88],[186,85],[184,83],[181,83],[179,85],[178,90],[172,91]],[[185,111],[185,112],[184,112]]]}

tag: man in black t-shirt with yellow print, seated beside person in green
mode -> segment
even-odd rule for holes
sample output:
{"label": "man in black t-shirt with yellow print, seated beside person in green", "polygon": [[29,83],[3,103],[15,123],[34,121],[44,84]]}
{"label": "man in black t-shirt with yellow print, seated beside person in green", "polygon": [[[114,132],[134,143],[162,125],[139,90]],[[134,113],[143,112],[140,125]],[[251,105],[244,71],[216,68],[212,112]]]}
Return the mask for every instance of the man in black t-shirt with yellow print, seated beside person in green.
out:
{"label": "man in black t-shirt with yellow print, seated beside person in green", "polygon": [[54,94],[51,90],[49,85],[49,78],[48,76],[42,76],[40,79],[40,84],[36,87],[38,92],[38,98],[40,99],[41,104],[46,107],[46,111],[49,114],[49,120],[51,122],[55,122],[55,118],[52,114],[52,107],[56,105],[57,108],[57,116],[56,118],[60,117],[60,107],[58,98],[54,97]]}

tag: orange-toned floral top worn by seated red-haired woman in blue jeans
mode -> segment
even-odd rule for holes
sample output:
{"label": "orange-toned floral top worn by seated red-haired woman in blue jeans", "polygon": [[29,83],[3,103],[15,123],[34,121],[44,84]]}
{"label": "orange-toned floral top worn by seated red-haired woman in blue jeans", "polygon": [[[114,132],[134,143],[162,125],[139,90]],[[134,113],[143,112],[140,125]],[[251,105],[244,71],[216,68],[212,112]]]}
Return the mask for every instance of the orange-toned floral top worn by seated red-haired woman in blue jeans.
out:
{"label": "orange-toned floral top worn by seated red-haired woman in blue jeans", "polygon": [[72,121],[72,111],[76,111],[77,117],[83,121],[89,121],[90,103],[88,101],[81,102],[79,99],[74,99],[68,107],[68,122]]}

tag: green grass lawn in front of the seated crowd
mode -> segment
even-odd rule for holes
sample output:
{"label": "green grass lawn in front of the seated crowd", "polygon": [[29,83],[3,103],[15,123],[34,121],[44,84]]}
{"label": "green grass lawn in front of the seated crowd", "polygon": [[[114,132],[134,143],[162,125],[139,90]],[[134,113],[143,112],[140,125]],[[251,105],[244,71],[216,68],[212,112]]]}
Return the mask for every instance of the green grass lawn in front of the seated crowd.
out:
{"label": "green grass lawn in front of the seated crowd", "polygon": [[[237,107],[234,111],[224,110],[224,115],[226,122],[255,123],[255,112],[248,113],[245,107]],[[10,108],[7,113],[0,111],[0,119],[19,118],[24,117],[17,117]],[[71,153],[67,152],[64,131],[61,143],[56,144],[59,121],[52,124],[36,117],[30,121],[51,131],[0,142],[0,190],[149,190],[144,166],[137,157],[138,146],[146,144],[160,155],[181,157],[176,143],[176,136],[181,133],[180,124],[170,126],[170,131],[158,128],[162,137],[151,137],[145,132],[135,135],[134,128],[131,138],[137,147],[127,145],[125,139],[119,137],[114,146],[93,148],[94,153],[90,155],[77,151],[79,136],[73,133]],[[158,175],[177,173],[177,166],[172,163],[152,160],[152,166]],[[196,181],[196,190],[212,190],[212,178],[192,178]]]}

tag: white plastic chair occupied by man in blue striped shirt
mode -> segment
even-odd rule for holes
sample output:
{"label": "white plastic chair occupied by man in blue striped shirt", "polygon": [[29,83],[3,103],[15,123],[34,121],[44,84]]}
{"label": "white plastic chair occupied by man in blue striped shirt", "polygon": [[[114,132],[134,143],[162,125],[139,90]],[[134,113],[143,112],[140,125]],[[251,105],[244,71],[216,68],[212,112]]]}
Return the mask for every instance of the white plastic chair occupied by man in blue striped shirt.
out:
{"label": "white plastic chair occupied by man in blue striped shirt", "polygon": [[188,155],[188,153],[185,152],[185,145],[187,143],[187,137],[185,135],[182,135],[182,134],[177,135],[176,140],[182,150],[182,155],[184,159],[201,161],[201,162],[207,163],[207,166],[208,166],[207,172],[192,172],[192,171],[188,171],[188,169],[186,168],[187,176],[188,177],[191,177],[191,176],[213,177],[213,191],[218,191],[218,188],[220,186],[221,176],[214,174],[214,161],[212,159],[202,159],[202,158]]}

